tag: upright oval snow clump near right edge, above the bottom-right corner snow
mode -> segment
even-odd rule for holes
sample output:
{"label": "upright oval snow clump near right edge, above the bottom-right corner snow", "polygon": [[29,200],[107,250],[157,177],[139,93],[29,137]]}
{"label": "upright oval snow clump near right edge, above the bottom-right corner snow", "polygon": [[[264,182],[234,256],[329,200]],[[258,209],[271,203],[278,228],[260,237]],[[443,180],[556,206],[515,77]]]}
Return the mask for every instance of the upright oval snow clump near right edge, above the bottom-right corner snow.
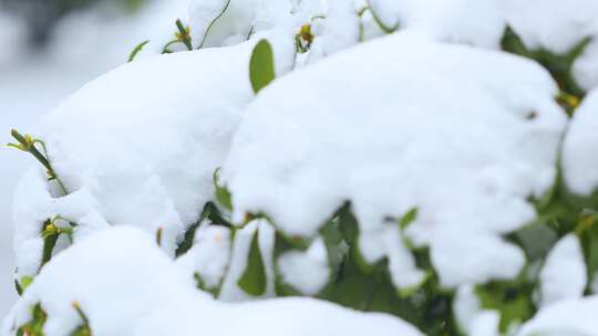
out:
{"label": "upright oval snow clump near right edge, above the bottom-right corner snow", "polygon": [[550,250],[540,272],[540,306],[566,298],[579,298],[586,290],[586,263],[576,235],[561,238]]}

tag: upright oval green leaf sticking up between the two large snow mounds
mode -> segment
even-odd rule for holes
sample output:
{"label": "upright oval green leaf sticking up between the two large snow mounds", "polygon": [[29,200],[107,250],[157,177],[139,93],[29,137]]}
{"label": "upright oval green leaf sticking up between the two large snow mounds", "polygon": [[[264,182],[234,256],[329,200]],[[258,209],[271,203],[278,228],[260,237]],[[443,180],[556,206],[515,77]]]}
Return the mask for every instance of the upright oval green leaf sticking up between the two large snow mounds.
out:
{"label": "upright oval green leaf sticking up between the two large snow mounds", "polygon": [[254,48],[249,62],[249,80],[257,94],[276,78],[272,46],[266,40]]}

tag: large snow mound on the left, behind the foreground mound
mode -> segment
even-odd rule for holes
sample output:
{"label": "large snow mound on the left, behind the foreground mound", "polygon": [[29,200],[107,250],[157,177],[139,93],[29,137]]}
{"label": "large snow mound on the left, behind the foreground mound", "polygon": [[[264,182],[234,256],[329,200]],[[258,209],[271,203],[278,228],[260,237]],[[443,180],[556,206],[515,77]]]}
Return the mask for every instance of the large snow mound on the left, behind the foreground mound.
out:
{"label": "large snow mound on the left, behind the foreground mound", "polygon": [[[93,224],[101,225],[100,214],[104,223],[152,233],[162,228],[163,248],[173,255],[185,228],[213,198],[212,175],[223,165],[241,112],[254,97],[248,76],[254,44],[128,63],[47,115],[31,133],[45,141],[71,193],[51,195],[41,170],[38,181],[34,174],[23,177],[14,200],[16,252],[39,237],[47,218],[60,214],[79,222],[93,214]],[[286,44],[272,44],[283,73],[291,62]],[[79,229],[90,225],[82,222]],[[39,263],[17,260],[24,260],[20,270]]]}

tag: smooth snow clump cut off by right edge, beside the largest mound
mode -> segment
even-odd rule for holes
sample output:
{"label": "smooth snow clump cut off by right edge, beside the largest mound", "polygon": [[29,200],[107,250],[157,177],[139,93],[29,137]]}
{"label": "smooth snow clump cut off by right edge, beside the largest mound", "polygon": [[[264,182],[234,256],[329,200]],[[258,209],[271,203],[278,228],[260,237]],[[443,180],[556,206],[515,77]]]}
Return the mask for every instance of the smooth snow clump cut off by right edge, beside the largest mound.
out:
{"label": "smooth snow clump cut off by right edge, beside the largest mound", "polygon": [[589,196],[598,187],[598,90],[576,109],[563,144],[563,172],[570,191]]}

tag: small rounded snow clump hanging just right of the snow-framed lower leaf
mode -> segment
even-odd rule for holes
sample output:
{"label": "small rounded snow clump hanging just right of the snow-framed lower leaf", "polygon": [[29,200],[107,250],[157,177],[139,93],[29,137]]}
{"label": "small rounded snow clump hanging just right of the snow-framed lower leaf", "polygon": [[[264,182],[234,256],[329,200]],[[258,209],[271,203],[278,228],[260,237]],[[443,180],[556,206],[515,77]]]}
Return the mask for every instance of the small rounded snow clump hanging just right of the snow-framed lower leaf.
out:
{"label": "small rounded snow clump hanging just right of the snow-framed lower leaf", "polygon": [[306,252],[285,252],[277,262],[281,280],[305,295],[318,294],[330,277],[326,245],[321,238],[315,240]]}

